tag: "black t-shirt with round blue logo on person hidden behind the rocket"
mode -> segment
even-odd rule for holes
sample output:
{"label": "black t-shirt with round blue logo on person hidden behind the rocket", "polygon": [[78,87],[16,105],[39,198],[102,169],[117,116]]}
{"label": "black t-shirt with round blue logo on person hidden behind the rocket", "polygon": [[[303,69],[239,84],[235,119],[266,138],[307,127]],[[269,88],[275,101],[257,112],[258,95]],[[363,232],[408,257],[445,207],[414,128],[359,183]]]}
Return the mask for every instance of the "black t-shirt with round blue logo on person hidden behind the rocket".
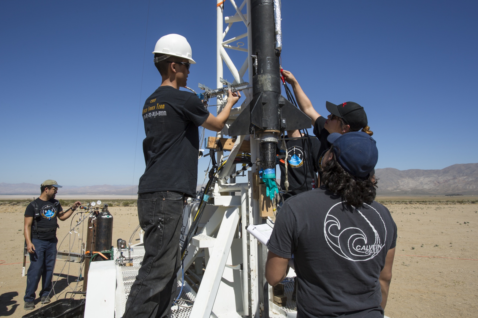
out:
{"label": "black t-shirt with round blue logo on person hidden behind the rocket", "polygon": [[[288,138],[286,136],[286,138]],[[289,165],[287,167],[289,192],[283,195],[284,200],[293,195],[298,195],[308,190],[312,190],[312,183],[314,187],[318,187],[316,172],[317,160],[319,158],[320,142],[316,138],[310,138],[312,145],[309,151],[309,139],[289,139],[285,141],[287,146],[287,160]],[[285,191],[285,151],[281,150],[282,141],[277,143],[277,159],[279,168],[281,169],[281,188]],[[309,158],[312,155],[312,158]],[[305,177],[307,177],[304,182]],[[314,180],[312,179],[314,178]]]}

